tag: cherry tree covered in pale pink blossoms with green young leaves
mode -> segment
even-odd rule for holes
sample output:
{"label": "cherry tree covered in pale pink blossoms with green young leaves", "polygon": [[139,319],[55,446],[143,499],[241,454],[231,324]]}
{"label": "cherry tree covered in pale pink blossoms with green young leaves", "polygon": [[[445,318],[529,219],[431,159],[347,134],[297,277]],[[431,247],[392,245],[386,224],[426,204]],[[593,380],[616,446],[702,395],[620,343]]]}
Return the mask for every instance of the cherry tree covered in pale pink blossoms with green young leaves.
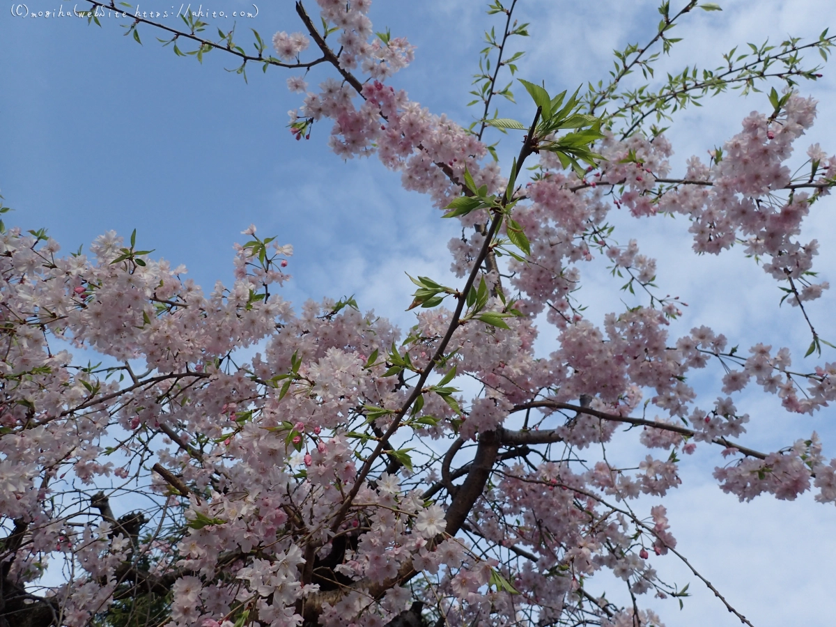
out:
{"label": "cherry tree covered in pale pink blossoms with green young leaves", "polygon": [[[686,69],[658,90],[624,89],[631,72],[652,74],[677,20],[716,9],[671,13],[665,2],[658,32],[616,53],[609,82],[552,96],[522,81],[536,106],[523,123],[488,117],[494,96],[511,96],[497,81],[522,56],[506,44],[527,34],[512,19],[517,0],[496,0],[504,30],[488,33],[474,91],[484,113],[466,129],[386,84],[413,49],[375,36],[368,0],[318,3],[321,27],[296,5],[304,32],[277,33],[278,58],[257,33],[254,55],[233,32],[206,39],[193,17],[184,31],[141,17],[130,30],[137,40],[140,26],[168,31],[177,54],[234,54],[241,74],[329,65],[319,90],[288,79],[304,93],[294,135],[332,120],[334,152],[377,155],[459,220],[469,236],[450,250],[461,283],[414,278],[420,313],[404,335],[353,298],[294,309],[277,292],[293,249],[254,227],[236,248],[235,283],[212,293],[135,237],[108,233],[89,255],[60,256],[45,232],[3,227],[3,627],[660,625],[640,595],[687,593],[650,556],[686,556],[665,507],[637,512],[631,501],[676,487],[679,456],[721,446],[730,459],[715,477],[741,499],[812,486],[836,502],[836,461],[815,434],[752,450],[741,439],[749,416],[728,396],[754,383],[788,411],[813,413],[836,398],[836,364],[793,370],[788,349],[738,352],[706,327],[672,336],[677,299],[657,293],[655,261],[635,241],[619,245],[607,222],[617,208],[680,213],[696,252],[742,245],[798,306],[808,355],[821,356],[827,343],[804,303],[828,286],[813,273],[817,242],[798,235],[836,159],[813,145],[803,174],[786,162],[815,116],[793,89],[818,76],[803,52],[826,55],[827,33],[732,52],[720,69]],[[95,21],[117,10],[91,4]],[[182,53],[183,40],[198,48]],[[305,61],[311,41],[319,56]],[[670,144],[655,124],[769,79],[786,84],[770,91],[772,110],[748,116],[711,161],[688,161],[685,178],[669,177]],[[490,128],[519,140],[512,163],[492,159]],[[644,306],[584,317],[575,292],[595,254],[645,293]],[[557,335],[552,354],[535,354],[535,320]],[[72,346],[102,363],[79,365]],[[243,359],[247,347],[259,352]],[[719,397],[689,384],[703,368],[725,369]],[[477,387],[464,395],[468,380]],[[643,459],[609,463],[607,444],[636,432]],[[133,511],[115,517],[115,499]],[[624,580],[625,607],[595,589],[604,568]]]}

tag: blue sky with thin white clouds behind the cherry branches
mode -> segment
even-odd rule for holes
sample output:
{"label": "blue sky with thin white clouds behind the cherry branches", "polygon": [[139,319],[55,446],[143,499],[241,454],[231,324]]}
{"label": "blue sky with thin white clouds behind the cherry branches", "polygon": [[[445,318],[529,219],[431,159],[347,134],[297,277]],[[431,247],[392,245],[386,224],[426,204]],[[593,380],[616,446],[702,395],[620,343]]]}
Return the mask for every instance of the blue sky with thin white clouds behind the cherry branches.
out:
{"label": "blue sky with thin white clouds behind the cherry branches", "polygon": [[[672,2],[674,9],[681,4]],[[675,36],[684,41],[660,61],[661,75],[694,63],[715,68],[721,54],[738,44],[818,37],[833,16],[832,5],[818,0],[721,4],[723,12],[696,12],[676,29]],[[313,1],[308,5],[313,13]],[[391,83],[433,113],[468,124],[478,115],[465,104],[482,33],[492,25],[501,28],[484,5],[375,0],[370,13],[375,28],[388,26],[417,46],[415,63]],[[60,0],[28,3],[30,12],[72,6]],[[231,13],[250,6],[217,0],[203,8]],[[139,7],[172,10],[157,1]],[[259,235],[277,235],[295,247],[285,298],[301,303],[354,294],[361,308],[374,308],[401,329],[411,324],[404,309],[413,288],[405,272],[450,278],[446,243],[459,233],[452,221],[438,219],[425,196],[402,191],[400,175],[375,159],[340,160],[326,145],[328,122],[315,125],[310,140],[293,140],[287,112],[301,100],[286,89],[287,71],[271,68],[263,74],[253,66],[245,84],[224,71],[237,66],[232,57],[212,52],[202,65],[177,58],[148,27],[140,27],[140,47],[122,36],[121,20],[103,18],[98,28],[74,18],[14,18],[8,8],[0,11],[0,190],[15,209],[5,218],[8,225],[47,227],[65,252],[104,231],[115,229],[127,237],[136,228],[140,247],[155,249],[155,256],[172,264],[186,264],[189,276],[208,291],[218,279],[231,282],[232,243],[244,241],[240,232],[252,222]],[[288,0],[258,4],[258,9],[257,18],[238,21],[240,43],[249,45],[246,28],[256,28],[264,38],[277,30],[302,29]],[[532,37],[516,42],[528,51],[520,75],[545,80],[552,93],[604,78],[612,67],[612,49],[646,41],[659,20],[656,3],[640,0],[520,0],[517,15],[532,23]],[[232,18],[210,22],[232,28]],[[797,144],[801,153],[817,141],[828,152],[836,150],[836,81],[833,68],[823,72],[823,79],[800,87],[803,95],[819,100],[817,124]],[[326,74],[314,72],[311,82]],[[521,104],[499,103],[501,115],[526,120],[533,107],[522,89],[516,91]],[[762,94],[746,99],[728,94],[678,115],[667,133],[675,149],[674,173],[684,171],[690,155],[706,156],[706,150],[735,134],[751,110],[767,108]],[[511,150],[516,147],[506,139],[501,154]],[[829,200],[814,206],[804,233],[821,242],[817,269],[832,283],[833,208]],[[811,369],[813,358],[801,359],[809,337],[800,312],[777,307],[776,284],[739,248],[719,257],[695,257],[682,219],[635,221],[614,214],[613,221],[619,241],[637,237],[642,252],[658,259],[660,291],[679,294],[690,304],[672,336],[708,324],[744,351],[758,341],[787,345],[798,369]],[[590,266],[582,268],[586,283],[579,298],[589,304],[589,318],[599,322],[604,313],[624,307],[623,294],[605,263]],[[831,341],[836,339],[832,298],[826,294],[810,308],[817,329]],[[541,327],[540,354],[548,355],[554,346],[554,332]],[[833,360],[833,353],[823,360]],[[720,375],[711,370],[695,380],[706,394],[716,394]],[[743,438],[748,446],[777,450],[816,430],[825,453],[836,456],[832,411],[799,417],[783,412],[773,397],[738,396],[738,408],[752,415]],[[630,446],[614,448],[614,455],[629,458],[630,453],[635,459]],[[721,463],[719,451],[699,448],[683,462],[683,486],[665,498],[681,551],[755,625],[833,624],[836,508],[818,505],[808,495],[798,502],[763,497],[740,504],[711,479],[711,470]],[[638,507],[646,511],[656,502],[647,499]],[[654,565],[665,579],[691,582],[693,597],[686,599],[683,612],[675,602],[645,599],[669,627],[739,624],[673,556]],[[599,593],[601,585],[591,589]],[[620,598],[618,589],[607,589],[611,598]]]}

